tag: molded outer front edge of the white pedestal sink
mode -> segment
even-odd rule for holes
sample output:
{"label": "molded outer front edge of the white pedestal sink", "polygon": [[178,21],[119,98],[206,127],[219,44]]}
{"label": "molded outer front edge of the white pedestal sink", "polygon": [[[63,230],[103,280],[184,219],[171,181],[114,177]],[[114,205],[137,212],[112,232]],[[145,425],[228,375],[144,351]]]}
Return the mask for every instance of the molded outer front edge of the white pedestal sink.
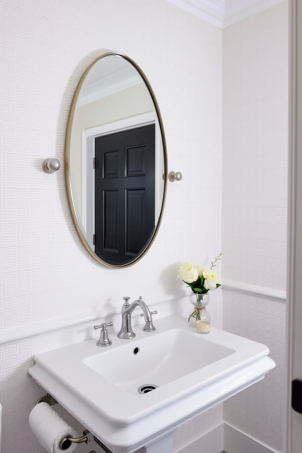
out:
{"label": "molded outer front edge of the white pedestal sink", "polygon": [[[173,424],[179,426],[187,419],[193,418],[198,413],[201,413],[213,405],[218,404],[222,400],[225,400],[229,397],[228,395],[233,395],[238,391],[243,390],[243,388],[262,379],[264,375],[274,366],[275,363],[272,359],[269,357],[263,357],[253,364],[244,367],[241,371],[235,371],[228,376],[228,379],[232,384],[227,389],[223,390],[222,387],[224,384],[217,381],[212,384],[209,389],[201,389],[193,395],[190,395],[186,401],[182,399],[172,403],[162,410],[163,418],[165,417],[163,412],[171,412],[169,421],[167,421],[168,419],[166,417],[165,429],[170,429]],[[255,368],[257,371],[255,371]],[[49,376],[40,365],[34,365],[29,374],[38,382],[40,386],[57,398],[58,401],[82,424],[84,424],[88,429],[91,429],[91,432],[102,442],[104,442],[105,445],[109,448],[114,447],[116,453],[122,451],[120,448],[128,448],[127,451],[129,452],[130,450],[135,451],[140,442],[144,442],[146,438],[150,438],[158,432],[156,427],[158,414],[155,412],[146,415],[144,418],[140,419],[138,422],[134,422],[133,424],[116,423],[115,428],[113,429],[112,427],[106,426],[108,425],[108,422],[100,412],[97,412],[95,408],[92,408],[85,400],[81,399],[79,395],[74,397],[71,390],[67,389],[62,382],[54,379],[53,376]],[[235,378],[236,385],[234,384]],[[209,398],[210,390],[213,390],[213,387],[217,388],[219,386],[221,387],[220,398],[218,400],[206,400],[206,397]],[[70,393],[73,397],[70,398],[68,393]],[[206,403],[201,404],[200,398],[204,398]],[[83,407],[81,407],[81,409],[77,408],[79,405]],[[93,416],[92,413],[94,413]],[[87,419],[90,419],[90,421]],[[140,425],[144,425],[144,429],[142,429]],[[112,431],[112,434],[109,437],[108,432],[110,432],[110,429],[108,428]],[[144,435],[141,434],[142,432]],[[136,446],[135,449],[132,449],[133,445]]]}

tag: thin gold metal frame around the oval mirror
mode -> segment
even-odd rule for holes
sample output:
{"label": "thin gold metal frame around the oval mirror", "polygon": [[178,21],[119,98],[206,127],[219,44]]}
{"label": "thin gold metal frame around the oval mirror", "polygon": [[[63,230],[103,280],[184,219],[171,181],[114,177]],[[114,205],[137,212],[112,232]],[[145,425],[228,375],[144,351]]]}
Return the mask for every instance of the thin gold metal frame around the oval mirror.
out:
{"label": "thin gold metal frame around the oval mirror", "polygon": [[[74,112],[75,112],[75,108],[76,108],[76,104],[77,104],[77,98],[79,96],[79,93],[80,93],[81,87],[82,87],[82,85],[84,83],[84,80],[85,80],[88,72],[91,70],[91,67],[94,66],[96,64],[96,62],[99,61],[101,58],[104,58],[104,57],[106,57],[108,55],[118,55],[119,57],[125,58],[125,60],[127,60],[130,64],[132,64],[132,66],[135,67],[137,72],[139,72],[139,75],[144,80],[144,83],[145,83],[146,87],[148,88],[149,94],[150,94],[151,99],[153,101],[153,105],[154,105],[154,108],[155,108],[155,111],[156,111],[156,115],[158,117],[160,133],[161,133],[161,137],[162,137],[162,141],[163,141],[163,159],[164,159],[163,202],[162,202],[162,208],[160,210],[160,214],[159,214],[159,217],[158,217],[158,222],[157,222],[156,228],[154,230],[152,238],[149,241],[149,244],[144,248],[144,250],[133,261],[131,261],[131,263],[128,263],[126,265],[121,265],[121,266],[119,266],[119,265],[111,265],[111,264],[108,264],[105,261],[101,260],[96,255],[96,253],[93,250],[91,250],[88,242],[86,241],[86,238],[85,238],[85,236],[83,235],[83,233],[81,231],[81,227],[80,227],[80,224],[79,224],[78,219],[77,219],[77,214],[76,214],[76,210],[75,210],[75,206],[74,206],[74,202],[73,202],[73,198],[72,198],[72,187],[71,187],[70,168],[69,168],[69,163],[70,163],[70,140],[71,140],[71,132],[72,132],[72,122],[73,122],[73,116],[74,116]],[[123,53],[118,53],[118,52],[103,53],[100,57],[96,58],[87,67],[86,71],[82,75],[82,77],[81,77],[81,79],[80,79],[80,81],[79,81],[79,83],[77,85],[77,88],[76,88],[76,91],[75,91],[75,93],[73,95],[72,103],[71,103],[71,106],[70,106],[70,111],[69,111],[68,121],[67,121],[66,137],[65,137],[65,183],[66,183],[68,204],[69,204],[70,212],[71,212],[71,215],[72,215],[73,223],[74,223],[74,225],[76,227],[76,230],[77,230],[77,234],[79,235],[79,237],[81,239],[81,242],[84,245],[84,247],[86,248],[86,250],[90,253],[91,256],[93,256],[93,258],[95,258],[95,260],[97,260],[99,263],[101,263],[101,264],[103,264],[103,265],[105,265],[107,267],[113,268],[113,269],[124,269],[126,267],[134,265],[136,262],[138,262],[139,260],[141,260],[143,258],[143,256],[147,253],[149,248],[152,246],[152,244],[153,244],[153,242],[155,240],[155,237],[156,237],[156,235],[158,233],[159,227],[161,225],[162,219],[163,219],[163,211],[164,211],[164,208],[165,208],[166,197],[167,197],[168,154],[167,154],[166,138],[165,138],[165,133],[164,133],[164,129],[163,129],[163,120],[162,120],[162,116],[161,116],[160,111],[159,111],[158,103],[156,101],[153,89],[152,89],[147,77],[145,76],[144,72],[140,69],[140,67],[131,58],[127,57]]]}

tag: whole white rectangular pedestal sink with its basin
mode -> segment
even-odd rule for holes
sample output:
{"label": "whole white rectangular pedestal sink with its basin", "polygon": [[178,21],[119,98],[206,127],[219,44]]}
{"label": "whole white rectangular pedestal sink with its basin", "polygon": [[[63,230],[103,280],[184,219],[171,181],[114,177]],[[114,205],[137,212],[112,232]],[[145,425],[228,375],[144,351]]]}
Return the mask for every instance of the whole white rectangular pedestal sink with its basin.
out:
{"label": "whole white rectangular pedestal sink with its basin", "polygon": [[37,354],[29,374],[113,453],[172,453],[180,424],[275,366],[266,346],[216,328],[196,333],[177,315],[156,328],[136,326],[132,340],[110,334],[110,347],[93,339]]}

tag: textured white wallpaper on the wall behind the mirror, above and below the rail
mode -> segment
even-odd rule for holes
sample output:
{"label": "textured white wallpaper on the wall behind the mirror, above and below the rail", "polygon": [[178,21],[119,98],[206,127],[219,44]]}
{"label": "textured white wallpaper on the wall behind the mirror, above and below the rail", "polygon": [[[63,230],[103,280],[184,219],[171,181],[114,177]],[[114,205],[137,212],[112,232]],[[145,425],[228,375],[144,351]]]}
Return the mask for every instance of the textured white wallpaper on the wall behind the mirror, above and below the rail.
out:
{"label": "textured white wallpaper on the wall behind the mirror, above and below the rail", "polygon": [[[1,0],[0,7],[1,328],[122,304],[125,295],[148,303],[182,287],[180,263],[210,262],[221,251],[221,29],[165,0]],[[169,184],[151,250],[126,270],[105,268],[86,252],[64,182],[72,95],[105,50],[125,53],[147,75],[163,116],[169,170],[183,174]],[[42,171],[47,157],[61,161],[58,173]],[[209,311],[221,327],[221,290]],[[113,320],[117,329],[120,318]],[[3,453],[42,453],[28,426],[43,393],[27,374],[34,353],[82,341],[91,328],[1,348]],[[190,422],[176,434],[176,448],[221,418],[217,406]]]}

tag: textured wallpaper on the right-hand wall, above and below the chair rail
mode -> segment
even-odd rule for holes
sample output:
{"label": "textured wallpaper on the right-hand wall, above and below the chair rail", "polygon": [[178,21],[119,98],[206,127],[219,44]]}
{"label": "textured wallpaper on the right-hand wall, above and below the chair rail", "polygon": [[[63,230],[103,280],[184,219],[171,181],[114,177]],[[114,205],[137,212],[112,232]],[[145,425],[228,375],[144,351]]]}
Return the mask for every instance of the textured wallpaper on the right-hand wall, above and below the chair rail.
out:
{"label": "textured wallpaper on the right-hand wall, above and below the chair rail", "polygon": [[[223,37],[223,278],[285,289],[288,2]],[[277,367],[224,402],[224,419],[282,450],[285,304],[223,290],[223,328],[262,342]]]}

